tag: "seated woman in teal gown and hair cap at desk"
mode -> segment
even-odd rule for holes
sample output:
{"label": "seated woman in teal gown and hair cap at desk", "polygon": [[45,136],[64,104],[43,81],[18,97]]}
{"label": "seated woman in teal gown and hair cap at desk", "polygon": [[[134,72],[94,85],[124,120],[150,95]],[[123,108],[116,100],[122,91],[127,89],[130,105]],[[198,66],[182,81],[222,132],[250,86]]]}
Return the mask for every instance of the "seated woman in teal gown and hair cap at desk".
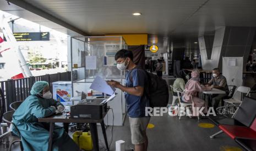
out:
{"label": "seated woman in teal gown and hair cap at desk", "polygon": [[[20,132],[24,150],[47,150],[50,125],[39,123],[37,119],[55,114],[56,108],[57,111],[63,111],[64,107],[60,102],[52,99],[47,82],[36,82],[30,93],[31,95],[13,114],[13,123]],[[15,126],[13,132],[18,135]],[[79,150],[79,148],[63,128],[55,125],[52,150]]]}

